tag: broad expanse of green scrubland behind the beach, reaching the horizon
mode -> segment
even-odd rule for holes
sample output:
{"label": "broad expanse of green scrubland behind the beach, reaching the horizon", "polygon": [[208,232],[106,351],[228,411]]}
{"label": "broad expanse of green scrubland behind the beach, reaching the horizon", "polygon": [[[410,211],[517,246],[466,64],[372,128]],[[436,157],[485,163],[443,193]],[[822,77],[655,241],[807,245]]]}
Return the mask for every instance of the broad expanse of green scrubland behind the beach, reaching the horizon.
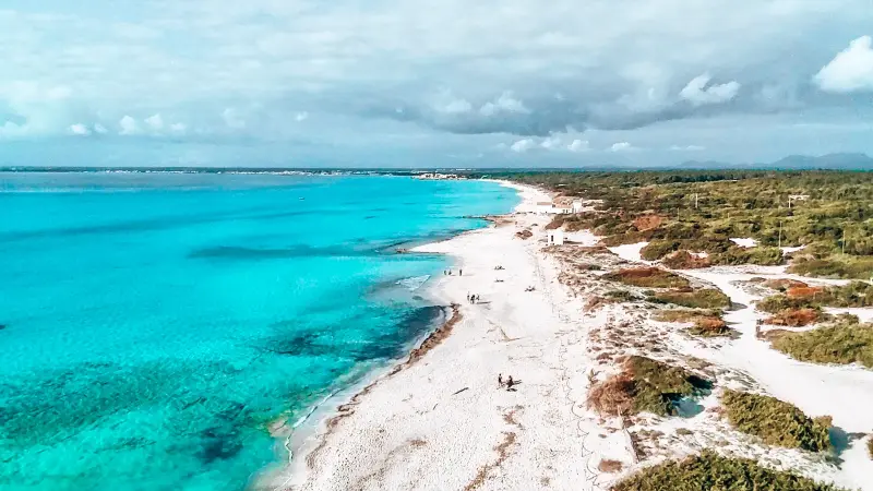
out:
{"label": "broad expanse of green scrubland behind the beach, reaching the horizon", "polygon": [[[569,230],[590,229],[609,246],[649,242],[642,251],[646,260],[684,250],[706,252],[710,264],[768,265],[785,261],[779,246],[802,246],[791,254],[792,273],[854,279],[869,279],[873,274],[873,172],[531,171],[489,176],[600,200],[593,211],[555,220]],[[757,246],[741,248],[730,238],[753,238]]]}

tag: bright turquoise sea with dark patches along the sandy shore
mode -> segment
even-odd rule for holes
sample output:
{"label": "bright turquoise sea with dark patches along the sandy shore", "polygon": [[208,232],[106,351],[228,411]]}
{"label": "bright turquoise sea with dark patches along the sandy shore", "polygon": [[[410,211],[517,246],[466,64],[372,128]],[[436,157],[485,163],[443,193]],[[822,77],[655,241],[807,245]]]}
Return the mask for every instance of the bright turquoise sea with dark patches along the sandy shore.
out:
{"label": "bright turquoise sea with dark patches along the sandy shore", "polygon": [[241,490],[267,426],[404,355],[512,190],[407,177],[0,173],[0,489]]}

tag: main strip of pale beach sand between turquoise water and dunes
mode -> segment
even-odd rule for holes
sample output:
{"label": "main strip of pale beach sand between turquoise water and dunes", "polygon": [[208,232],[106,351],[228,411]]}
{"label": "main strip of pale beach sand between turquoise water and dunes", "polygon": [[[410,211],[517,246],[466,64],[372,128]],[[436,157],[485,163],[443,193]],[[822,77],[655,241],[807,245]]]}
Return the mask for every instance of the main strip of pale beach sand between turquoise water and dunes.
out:
{"label": "main strip of pale beach sand between turquoise water and dunes", "polygon": [[[280,489],[590,489],[593,421],[577,416],[586,327],[571,321],[578,299],[539,252],[550,218],[526,213],[548,195],[515,188],[524,201],[514,224],[416,249],[455,259],[453,275],[429,287],[458,306],[451,336],[345,406],[298,450]],[[528,227],[533,238],[515,236]],[[471,304],[468,294],[481,300]],[[499,374],[519,383],[499,388]]]}

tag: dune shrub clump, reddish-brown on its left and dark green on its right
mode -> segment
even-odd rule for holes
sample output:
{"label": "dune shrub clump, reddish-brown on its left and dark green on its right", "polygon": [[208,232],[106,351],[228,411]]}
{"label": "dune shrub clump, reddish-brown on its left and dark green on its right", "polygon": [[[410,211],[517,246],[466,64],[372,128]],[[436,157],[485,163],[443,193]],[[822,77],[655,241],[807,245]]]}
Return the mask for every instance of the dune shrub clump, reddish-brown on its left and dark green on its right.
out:
{"label": "dune shrub clump, reddish-brown on its left and dark green on its right", "polygon": [[632,356],[622,364],[621,373],[591,388],[588,406],[611,416],[643,411],[675,416],[679,414],[674,405],[677,400],[699,396],[711,386],[710,381],[683,368]]}

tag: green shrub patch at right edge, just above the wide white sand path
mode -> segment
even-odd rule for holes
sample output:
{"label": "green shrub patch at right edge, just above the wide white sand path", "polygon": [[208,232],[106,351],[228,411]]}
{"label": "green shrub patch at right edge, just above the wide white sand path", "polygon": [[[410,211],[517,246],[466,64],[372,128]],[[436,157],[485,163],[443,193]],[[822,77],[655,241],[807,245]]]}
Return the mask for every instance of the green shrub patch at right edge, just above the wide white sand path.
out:
{"label": "green shrub patch at right edge, just above the wide white sand path", "polygon": [[773,347],[800,361],[860,363],[873,369],[873,324],[838,323],[802,333],[779,332]]}

